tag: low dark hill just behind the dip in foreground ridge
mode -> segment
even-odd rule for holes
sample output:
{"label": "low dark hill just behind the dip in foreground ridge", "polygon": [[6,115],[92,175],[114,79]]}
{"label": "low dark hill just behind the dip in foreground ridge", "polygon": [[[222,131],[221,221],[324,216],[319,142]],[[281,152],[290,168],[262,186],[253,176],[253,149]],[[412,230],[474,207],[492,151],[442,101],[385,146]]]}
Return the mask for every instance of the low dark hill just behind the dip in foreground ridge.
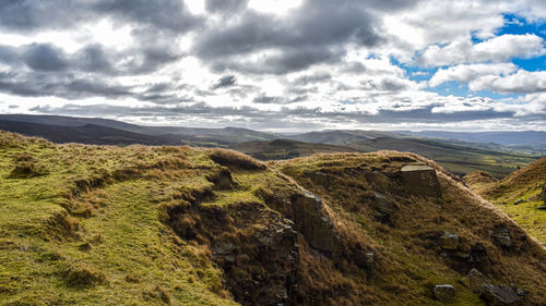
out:
{"label": "low dark hill just behind the dip in foreground ridge", "polygon": [[311,144],[292,139],[275,139],[269,142],[247,142],[230,146],[261,160],[290,159],[310,156],[318,152],[356,152],[358,150],[332,145]]}

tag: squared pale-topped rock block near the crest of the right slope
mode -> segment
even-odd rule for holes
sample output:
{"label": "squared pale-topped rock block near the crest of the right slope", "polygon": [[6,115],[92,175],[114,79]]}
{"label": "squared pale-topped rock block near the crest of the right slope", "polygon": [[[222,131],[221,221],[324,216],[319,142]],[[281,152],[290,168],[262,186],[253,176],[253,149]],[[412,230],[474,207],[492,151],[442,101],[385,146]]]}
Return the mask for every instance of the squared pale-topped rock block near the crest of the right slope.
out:
{"label": "squared pale-topped rock block near the crest of the right slope", "polygon": [[426,197],[441,196],[440,182],[435,169],[425,164],[410,164],[400,170],[400,175],[410,193]]}

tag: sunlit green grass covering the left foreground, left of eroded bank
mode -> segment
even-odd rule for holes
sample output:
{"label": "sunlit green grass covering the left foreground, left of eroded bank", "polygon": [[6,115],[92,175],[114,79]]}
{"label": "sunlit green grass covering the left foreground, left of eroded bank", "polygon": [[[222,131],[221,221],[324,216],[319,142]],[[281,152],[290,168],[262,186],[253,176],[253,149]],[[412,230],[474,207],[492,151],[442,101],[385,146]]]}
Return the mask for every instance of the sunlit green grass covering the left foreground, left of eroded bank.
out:
{"label": "sunlit green grass covering the left foreground, left of eroded bank", "polygon": [[[33,155],[49,174],[7,179],[13,156],[22,152]],[[194,166],[211,164],[195,152]],[[0,304],[235,305],[216,294],[223,289],[221,271],[202,260],[206,249],[180,246],[159,222],[157,206],[176,191],[175,180],[158,179],[151,170],[147,178],[140,173],[142,179],[110,180],[71,196],[79,180],[91,180],[102,171],[151,167],[176,155],[145,147],[3,146]],[[205,184],[201,178],[188,180],[189,186],[192,181]],[[88,203],[97,206],[93,217],[67,213],[66,207]],[[67,220],[78,227],[73,232],[59,229],[59,222]]]}

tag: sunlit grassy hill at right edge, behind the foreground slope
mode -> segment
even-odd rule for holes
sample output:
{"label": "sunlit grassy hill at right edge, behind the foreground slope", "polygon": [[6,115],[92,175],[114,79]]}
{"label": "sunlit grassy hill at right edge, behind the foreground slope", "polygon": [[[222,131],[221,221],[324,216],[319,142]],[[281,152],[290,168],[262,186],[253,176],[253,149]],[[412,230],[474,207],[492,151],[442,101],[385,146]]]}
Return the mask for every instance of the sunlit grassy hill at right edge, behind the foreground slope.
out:
{"label": "sunlit grassy hill at right edge, behind the foreground slope", "polygon": [[473,192],[497,205],[533,236],[546,243],[546,211],[537,209],[546,205],[541,195],[546,186],[546,157],[501,181],[491,180],[483,172],[472,173],[465,181]]}

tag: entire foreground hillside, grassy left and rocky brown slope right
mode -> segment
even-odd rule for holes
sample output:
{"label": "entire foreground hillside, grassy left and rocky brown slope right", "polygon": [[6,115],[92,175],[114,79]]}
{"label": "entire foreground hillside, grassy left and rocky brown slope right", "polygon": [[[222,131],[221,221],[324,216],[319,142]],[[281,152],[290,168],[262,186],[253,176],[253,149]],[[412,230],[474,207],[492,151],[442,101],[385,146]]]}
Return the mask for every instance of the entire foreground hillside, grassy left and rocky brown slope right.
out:
{"label": "entire foreground hillside, grassy left and rocky brown slope right", "polygon": [[[415,155],[0,132],[0,183],[2,305],[442,305],[443,284],[451,305],[546,304],[546,250]],[[473,268],[490,281],[459,283]]]}

